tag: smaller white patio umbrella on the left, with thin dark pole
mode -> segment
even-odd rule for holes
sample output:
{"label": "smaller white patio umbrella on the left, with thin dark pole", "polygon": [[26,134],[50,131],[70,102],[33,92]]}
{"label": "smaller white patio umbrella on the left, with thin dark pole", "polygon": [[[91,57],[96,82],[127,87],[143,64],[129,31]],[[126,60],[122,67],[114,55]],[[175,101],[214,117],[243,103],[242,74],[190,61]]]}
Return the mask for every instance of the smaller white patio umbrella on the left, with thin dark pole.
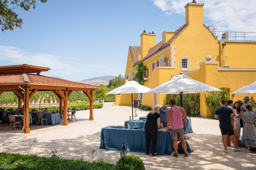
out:
{"label": "smaller white patio umbrella on the left, with thin dark pole", "polygon": [[[106,94],[127,94],[127,93],[145,93],[151,90],[148,87],[140,85],[137,81],[128,81],[124,85],[107,92]],[[133,98],[132,98],[133,101]],[[132,119],[133,119],[133,105],[132,105]]]}

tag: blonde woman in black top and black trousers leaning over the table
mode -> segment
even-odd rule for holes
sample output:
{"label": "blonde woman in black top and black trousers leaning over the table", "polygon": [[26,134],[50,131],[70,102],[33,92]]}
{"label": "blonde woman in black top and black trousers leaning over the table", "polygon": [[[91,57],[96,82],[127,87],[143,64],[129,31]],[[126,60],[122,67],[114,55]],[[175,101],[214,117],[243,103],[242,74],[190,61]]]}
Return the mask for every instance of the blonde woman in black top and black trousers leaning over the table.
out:
{"label": "blonde woman in black top and black trousers leaning over the table", "polygon": [[155,107],[152,112],[149,112],[147,116],[147,122],[145,124],[146,135],[146,155],[149,155],[149,145],[152,138],[152,156],[157,156],[156,153],[156,141],[157,141],[157,128],[160,128],[160,115],[159,109]]}

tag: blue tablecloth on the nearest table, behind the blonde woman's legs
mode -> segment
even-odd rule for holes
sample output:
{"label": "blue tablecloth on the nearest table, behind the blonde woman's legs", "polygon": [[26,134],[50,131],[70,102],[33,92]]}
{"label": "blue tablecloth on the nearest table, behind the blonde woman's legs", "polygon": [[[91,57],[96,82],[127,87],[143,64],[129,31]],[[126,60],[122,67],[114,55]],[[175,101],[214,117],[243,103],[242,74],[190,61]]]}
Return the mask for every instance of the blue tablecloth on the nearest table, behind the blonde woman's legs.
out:
{"label": "blue tablecloth on the nearest table, behind the blonde woman's legs", "polygon": [[[111,128],[111,126],[101,129],[100,148],[119,150],[122,148],[123,142],[127,151],[146,152],[145,130]],[[172,143],[172,136],[169,132],[158,131],[156,153],[171,155],[173,151]],[[150,143],[150,152],[152,152],[151,146]]]}

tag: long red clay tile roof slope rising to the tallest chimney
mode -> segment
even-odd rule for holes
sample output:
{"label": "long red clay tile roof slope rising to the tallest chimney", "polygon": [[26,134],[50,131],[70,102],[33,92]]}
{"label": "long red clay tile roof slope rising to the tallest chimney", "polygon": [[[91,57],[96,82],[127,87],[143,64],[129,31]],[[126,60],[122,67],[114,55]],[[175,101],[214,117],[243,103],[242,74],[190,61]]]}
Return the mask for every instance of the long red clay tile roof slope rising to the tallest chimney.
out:
{"label": "long red clay tile roof slope rising to the tallest chimney", "polygon": [[153,46],[150,50],[148,50],[148,54],[142,59],[142,61],[149,58],[154,53],[156,53],[157,51],[166,47],[167,45],[170,45],[188,27],[188,25],[189,24],[187,24],[187,25],[184,24],[183,26],[181,26],[178,30],[175,31],[176,34],[174,34],[174,36],[168,42],[164,43],[163,45],[162,45],[162,41],[161,41],[158,44],[156,44],[155,46]]}

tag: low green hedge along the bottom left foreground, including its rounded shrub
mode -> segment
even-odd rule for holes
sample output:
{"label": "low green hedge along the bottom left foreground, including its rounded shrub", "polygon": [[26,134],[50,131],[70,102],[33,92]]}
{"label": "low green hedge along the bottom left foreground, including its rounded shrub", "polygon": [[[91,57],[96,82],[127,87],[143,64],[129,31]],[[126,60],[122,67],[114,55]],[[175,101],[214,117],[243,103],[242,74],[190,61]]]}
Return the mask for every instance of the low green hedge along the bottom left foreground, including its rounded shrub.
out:
{"label": "low green hedge along the bottom left foreground, including its rounded shrub", "polygon": [[[39,157],[36,155],[20,155],[0,152],[0,169],[19,170],[119,170],[123,169],[122,159],[116,162],[105,162],[103,159],[93,163],[86,160],[63,159],[57,157]],[[128,155],[125,158],[125,170],[145,170],[143,161],[137,156]]]}

